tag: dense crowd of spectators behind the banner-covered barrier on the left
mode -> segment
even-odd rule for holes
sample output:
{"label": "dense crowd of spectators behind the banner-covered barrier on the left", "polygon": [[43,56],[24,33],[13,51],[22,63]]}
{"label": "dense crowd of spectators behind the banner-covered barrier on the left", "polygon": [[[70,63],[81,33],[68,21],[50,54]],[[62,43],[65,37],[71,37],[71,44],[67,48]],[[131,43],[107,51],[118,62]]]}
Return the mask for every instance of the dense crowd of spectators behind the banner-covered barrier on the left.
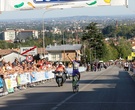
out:
{"label": "dense crowd of spectators behind the banner-covered barrier on the left", "polygon": [[[23,73],[30,73],[32,77],[33,71],[49,71],[55,69],[56,65],[53,62],[49,62],[46,59],[34,60],[33,62],[27,62],[26,60],[20,62],[17,58],[13,62],[6,62],[4,59],[0,61],[0,78],[3,79],[4,87],[5,82],[4,79],[9,78],[11,74],[23,74]],[[26,86],[22,85],[23,89],[26,89]],[[17,90],[17,88],[15,88]],[[6,87],[4,88],[6,90]]]}

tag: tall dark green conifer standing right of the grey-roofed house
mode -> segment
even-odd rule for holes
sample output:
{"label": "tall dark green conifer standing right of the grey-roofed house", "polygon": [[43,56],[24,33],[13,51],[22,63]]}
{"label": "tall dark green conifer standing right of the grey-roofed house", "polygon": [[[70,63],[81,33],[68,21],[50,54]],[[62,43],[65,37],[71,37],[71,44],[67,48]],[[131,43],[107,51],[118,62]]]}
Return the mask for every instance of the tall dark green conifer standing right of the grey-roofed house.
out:
{"label": "tall dark green conifer standing right of the grey-roofed house", "polygon": [[[92,58],[101,59],[103,50],[103,34],[101,30],[97,28],[97,23],[90,23],[86,26],[86,30],[83,33],[82,40],[85,41],[87,47],[91,50]],[[88,53],[86,53],[88,54]],[[89,55],[87,55],[89,56]]]}

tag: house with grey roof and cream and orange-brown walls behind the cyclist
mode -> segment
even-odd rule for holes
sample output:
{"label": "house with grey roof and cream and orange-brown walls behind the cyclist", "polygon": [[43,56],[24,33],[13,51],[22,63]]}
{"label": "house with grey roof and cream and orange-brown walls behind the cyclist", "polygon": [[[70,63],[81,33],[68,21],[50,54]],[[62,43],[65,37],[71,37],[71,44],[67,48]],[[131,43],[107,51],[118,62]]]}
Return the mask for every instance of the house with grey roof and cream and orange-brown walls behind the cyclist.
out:
{"label": "house with grey roof and cream and orange-brown walls behind the cyclist", "polygon": [[67,53],[69,56],[74,59],[78,56],[78,59],[81,59],[81,50],[82,44],[66,44],[66,45],[48,45],[46,47],[46,51],[48,52],[48,60],[49,61],[69,61],[67,57]]}

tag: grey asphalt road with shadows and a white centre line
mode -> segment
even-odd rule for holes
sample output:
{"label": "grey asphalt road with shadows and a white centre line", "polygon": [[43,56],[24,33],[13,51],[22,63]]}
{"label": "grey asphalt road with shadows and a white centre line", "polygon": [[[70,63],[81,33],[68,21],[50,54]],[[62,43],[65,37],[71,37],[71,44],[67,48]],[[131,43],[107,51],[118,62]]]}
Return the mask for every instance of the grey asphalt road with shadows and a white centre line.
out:
{"label": "grey asphalt road with shadows and a white centre line", "polygon": [[0,110],[135,110],[135,82],[110,66],[82,73],[78,93],[72,92],[71,79],[63,87],[52,80],[0,97]]}

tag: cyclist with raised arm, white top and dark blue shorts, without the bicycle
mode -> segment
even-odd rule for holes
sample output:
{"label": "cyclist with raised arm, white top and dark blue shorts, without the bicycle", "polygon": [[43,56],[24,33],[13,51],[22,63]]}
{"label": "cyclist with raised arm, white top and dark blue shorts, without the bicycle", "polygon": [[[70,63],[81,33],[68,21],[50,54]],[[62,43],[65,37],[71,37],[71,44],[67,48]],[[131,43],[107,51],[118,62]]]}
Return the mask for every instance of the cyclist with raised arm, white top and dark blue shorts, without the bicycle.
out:
{"label": "cyclist with raised arm, white top and dark blue shorts, without the bicycle", "polygon": [[79,65],[80,65],[80,61],[78,61],[77,57],[75,57],[75,60],[72,60],[68,54],[67,57],[69,58],[69,60],[72,62],[73,65],[73,72],[72,72],[72,76],[74,77],[76,74],[78,75],[78,81],[80,80],[80,72],[79,72]]}

